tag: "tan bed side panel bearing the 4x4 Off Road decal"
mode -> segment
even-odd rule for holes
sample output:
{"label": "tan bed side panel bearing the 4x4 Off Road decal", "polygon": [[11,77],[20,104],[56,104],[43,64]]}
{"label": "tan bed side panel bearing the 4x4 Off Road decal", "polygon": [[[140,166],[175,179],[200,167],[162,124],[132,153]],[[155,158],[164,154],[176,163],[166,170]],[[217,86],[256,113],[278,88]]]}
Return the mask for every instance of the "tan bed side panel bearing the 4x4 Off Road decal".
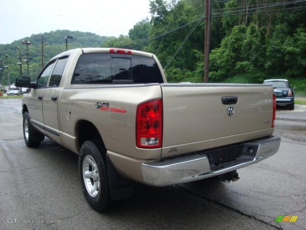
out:
{"label": "tan bed side panel bearing the 4x4 Off Road decal", "polygon": [[[63,143],[66,148],[78,153],[76,127],[79,121],[86,120],[99,130],[108,151],[134,159],[160,159],[161,148],[136,148],[135,122],[138,104],[161,97],[159,84],[66,87],[62,91],[59,106]],[[97,109],[97,102],[108,103],[109,110]],[[126,112],[111,111],[111,108]]]}

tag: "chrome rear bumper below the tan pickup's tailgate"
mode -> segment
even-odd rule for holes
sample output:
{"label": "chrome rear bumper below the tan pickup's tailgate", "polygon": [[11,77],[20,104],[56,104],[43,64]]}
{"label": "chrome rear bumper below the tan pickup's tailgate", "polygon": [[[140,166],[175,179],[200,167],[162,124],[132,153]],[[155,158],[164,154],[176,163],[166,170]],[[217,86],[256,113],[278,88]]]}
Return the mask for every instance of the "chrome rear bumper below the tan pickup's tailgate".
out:
{"label": "chrome rear bumper below the tan pickup's tailgate", "polygon": [[[221,169],[212,170],[205,151],[168,159],[161,162],[143,163],[141,171],[144,182],[151,186],[169,186],[214,177],[242,167],[255,164],[274,155],[281,138],[273,136],[243,143],[243,152],[237,160],[226,162]],[[252,152],[249,150],[252,147]]]}

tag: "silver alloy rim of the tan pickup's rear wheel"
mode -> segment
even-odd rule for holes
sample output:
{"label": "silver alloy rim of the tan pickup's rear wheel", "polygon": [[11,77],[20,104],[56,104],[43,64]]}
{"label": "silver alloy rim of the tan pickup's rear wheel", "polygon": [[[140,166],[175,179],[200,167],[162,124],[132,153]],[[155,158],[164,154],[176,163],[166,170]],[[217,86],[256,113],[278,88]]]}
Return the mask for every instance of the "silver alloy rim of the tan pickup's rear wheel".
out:
{"label": "silver alloy rim of the tan pickup's rear wheel", "polygon": [[90,155],[85,156],[82,171],[87,192],[92,197],[96,197],[100,189],[100,177],[97,164]]}

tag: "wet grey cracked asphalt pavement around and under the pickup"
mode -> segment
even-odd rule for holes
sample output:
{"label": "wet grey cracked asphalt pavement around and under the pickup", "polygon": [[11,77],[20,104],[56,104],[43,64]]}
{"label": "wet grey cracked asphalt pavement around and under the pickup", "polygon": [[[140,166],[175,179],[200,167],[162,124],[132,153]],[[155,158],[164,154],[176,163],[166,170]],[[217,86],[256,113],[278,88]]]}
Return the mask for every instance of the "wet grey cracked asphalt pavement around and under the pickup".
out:
{"label": "wet grey cracked asphalt pavement around and under the pickup", "polygon": [[[21,99],[0,100],[0,229],[306,229],[306,106],[278,110],[277,119],[278,153],[238,170],[237,182],[136,185],[102,214],[80,189],[77,155],[49,139],[27,148]],[[298,218],[275,222],[285,215]]]}

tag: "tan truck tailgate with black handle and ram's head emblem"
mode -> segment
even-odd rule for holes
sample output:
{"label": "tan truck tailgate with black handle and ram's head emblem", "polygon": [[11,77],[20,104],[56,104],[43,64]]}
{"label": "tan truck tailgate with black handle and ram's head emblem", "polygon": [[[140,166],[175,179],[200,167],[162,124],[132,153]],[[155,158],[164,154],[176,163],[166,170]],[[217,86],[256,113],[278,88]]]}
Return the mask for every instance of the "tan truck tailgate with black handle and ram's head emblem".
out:
{"label": "tan truck tailgate with black handle and ram's head emblem", "polygon": [[[247,84],[162,84],[162,157],[273,133],[273,88]],[[222,97],[237,97],[223,104]],[[233,107],[229,116],[228,108]]]}

